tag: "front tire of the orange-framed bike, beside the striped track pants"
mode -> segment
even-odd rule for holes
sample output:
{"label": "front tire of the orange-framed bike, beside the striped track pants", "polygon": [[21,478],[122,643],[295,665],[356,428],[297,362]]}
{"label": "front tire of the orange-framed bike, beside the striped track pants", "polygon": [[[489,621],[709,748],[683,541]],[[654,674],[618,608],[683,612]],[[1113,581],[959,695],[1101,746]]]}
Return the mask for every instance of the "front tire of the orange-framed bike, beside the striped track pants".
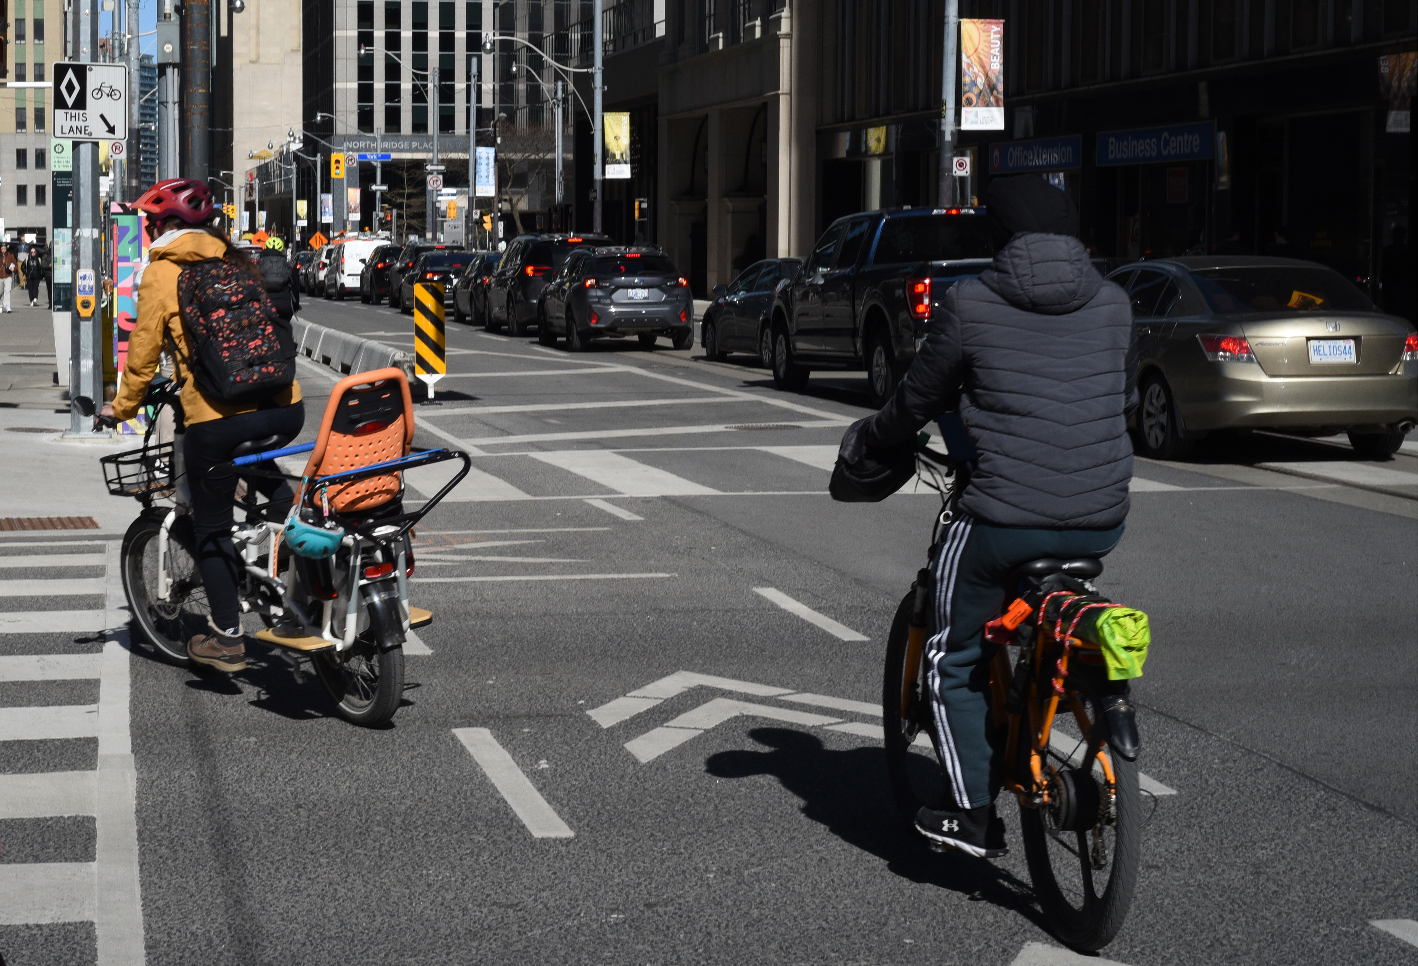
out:
{"label": "front tire of the orange-framed bike, beside the striped track pants", "polygon": [[[930,696],[923,681],[925,655],[916,668],[919,701],[909,716],[902,715],[902,685],[905,684],[906,644],[910,634],[910,611],[916,590],[912,589],[896,609],[891,634],[886,637],[886,671],[882,675],[882,732],[886,748],[886,775],[891,780],[896,810],[908,828],[915,830],[916,813],[922,806],[942,809],[950,792],[946,772],[940,765],[934,728],[930,725]],[[926,735],[927,742],[919,736]]]}

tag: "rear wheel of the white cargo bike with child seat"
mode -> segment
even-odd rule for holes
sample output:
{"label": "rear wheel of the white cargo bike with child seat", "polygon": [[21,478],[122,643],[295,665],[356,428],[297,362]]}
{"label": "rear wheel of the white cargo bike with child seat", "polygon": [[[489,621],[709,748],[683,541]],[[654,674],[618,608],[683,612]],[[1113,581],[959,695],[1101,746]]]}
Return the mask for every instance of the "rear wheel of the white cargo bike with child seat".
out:
{"label": "rear wheel of the white cargo bike with child seat", "polygon": [[335,702],[335,714],[352,725],[377,728],[398,711],[404,696],[403,624],[390,609],[366,599],[369,628],[346,651],[316,651],[315,674]]}

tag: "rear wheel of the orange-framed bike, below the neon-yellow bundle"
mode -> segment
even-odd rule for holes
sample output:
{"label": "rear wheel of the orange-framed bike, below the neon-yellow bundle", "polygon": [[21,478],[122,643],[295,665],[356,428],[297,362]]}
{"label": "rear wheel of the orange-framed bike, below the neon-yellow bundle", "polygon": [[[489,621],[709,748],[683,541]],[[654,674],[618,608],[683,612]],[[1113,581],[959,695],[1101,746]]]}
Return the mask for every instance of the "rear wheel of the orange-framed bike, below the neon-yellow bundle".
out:
{"label": "rear wheel of the orange-framed bike, below the neon-yellow bundle", "polygon": [[[1069,694],[1083,702],[1090,728],[1102,729],[1106,738],[1096,688],[1092,682],[1081,684],[1078,675],[1069,685]],[[1088,731],[1079,728],[1065,706],[1061,701],[1056,736],[1045,760],[1051,804],[1039,809],[1021,804],[1020,831],[1034,892],[1049,925],[1069,946],[1096,952],[1122,929],[1133,901],[1141,847],[1141,790],[1136,762],[1109,753],[1116,779],[1110,789],[1098,757],[1082,760],[1088,753]],[[1106,749],[1105,742],[1102,750]]]}

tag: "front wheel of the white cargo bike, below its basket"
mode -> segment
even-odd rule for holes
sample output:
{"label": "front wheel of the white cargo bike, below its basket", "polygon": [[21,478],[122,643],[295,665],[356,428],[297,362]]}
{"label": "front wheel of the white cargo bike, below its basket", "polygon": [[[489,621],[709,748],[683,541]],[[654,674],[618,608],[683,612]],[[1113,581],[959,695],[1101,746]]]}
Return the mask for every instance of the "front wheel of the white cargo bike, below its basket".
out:
{"label": "front wheel of the white cargo bike, below its basket", "polygon": [[179,667],[191,667],[187,641],[207,630],[207,592],[193,553],[191,518],[177,516],[169,533],[167,572],[173,576],[172,600],[157,600],[157,543],[167,509],[145,509],[123,533],[119,569],[123,594],[143,637]]}

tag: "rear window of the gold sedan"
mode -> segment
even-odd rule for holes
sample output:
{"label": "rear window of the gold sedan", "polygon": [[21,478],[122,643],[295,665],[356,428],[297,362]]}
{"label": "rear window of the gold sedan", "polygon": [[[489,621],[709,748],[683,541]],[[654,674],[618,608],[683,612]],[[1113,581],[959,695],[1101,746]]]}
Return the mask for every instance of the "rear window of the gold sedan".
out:
{"label": "rear window of the gold sedan", "polygon": [[1212,312],[1374,312],[1374,304],[1323,265],[1235,265],[1191,272]]}

